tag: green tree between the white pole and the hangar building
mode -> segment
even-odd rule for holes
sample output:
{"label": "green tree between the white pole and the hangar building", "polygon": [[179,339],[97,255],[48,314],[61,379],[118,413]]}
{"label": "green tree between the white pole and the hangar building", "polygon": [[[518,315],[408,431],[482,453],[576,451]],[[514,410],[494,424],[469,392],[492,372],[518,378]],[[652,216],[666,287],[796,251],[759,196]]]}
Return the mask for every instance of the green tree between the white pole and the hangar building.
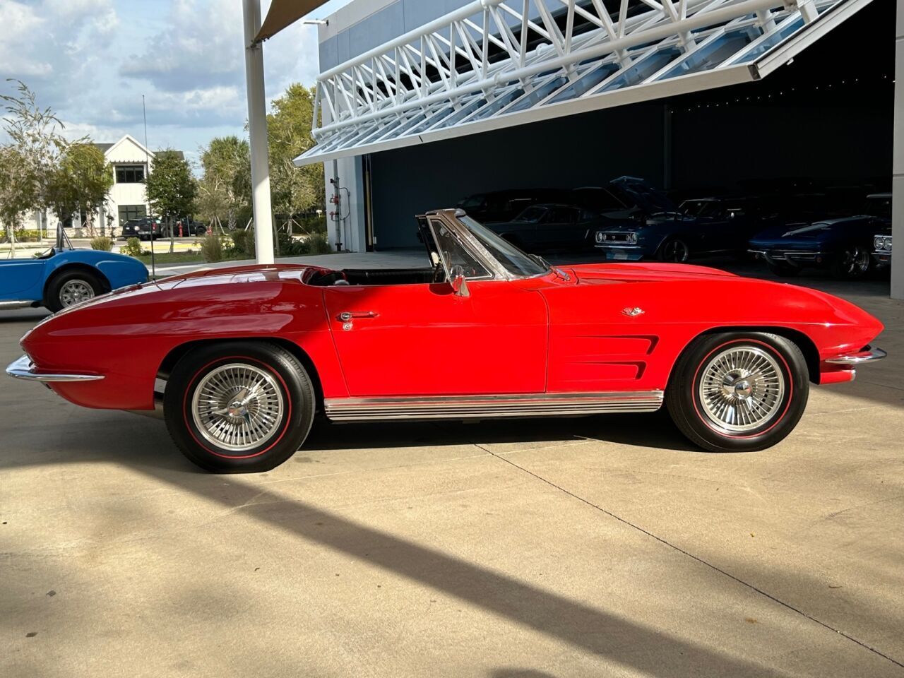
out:
{"label": "green tree between the white pole and the hangar building", "polygon": [[311,120],[315,89],[295,83],[274,99],[267,116],[270,186],[274,212],[295,214],[324,209],[324,166],[296,167],[298,155],[314,146]]}

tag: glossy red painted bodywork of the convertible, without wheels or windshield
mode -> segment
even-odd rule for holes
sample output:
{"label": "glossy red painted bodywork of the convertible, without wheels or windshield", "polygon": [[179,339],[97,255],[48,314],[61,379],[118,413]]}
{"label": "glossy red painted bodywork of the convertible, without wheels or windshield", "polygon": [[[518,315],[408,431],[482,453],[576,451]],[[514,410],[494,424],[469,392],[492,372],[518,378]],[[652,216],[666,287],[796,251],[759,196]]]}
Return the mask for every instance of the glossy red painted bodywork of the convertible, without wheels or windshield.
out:
{"label": "glossy red painted bodywork of the convertible, without wheels or windshield", "polygon": [[[447,284],[304,282],[326,270],[230,268],[120,290],[52,316],[22,345],[38,371],[104,376],[50,384],[63,398],[152,410],[166,356],[199,341],[295,344],[323,396],[342,399],[664,390],[683,349],[714,329],[803,334],[819,361],[858,351],[882,330],[842,299],[694,266],[565,267],[568,279],[468,281],[468,297]],[[815,381],[852,373],[818,369],[826,377]]]}

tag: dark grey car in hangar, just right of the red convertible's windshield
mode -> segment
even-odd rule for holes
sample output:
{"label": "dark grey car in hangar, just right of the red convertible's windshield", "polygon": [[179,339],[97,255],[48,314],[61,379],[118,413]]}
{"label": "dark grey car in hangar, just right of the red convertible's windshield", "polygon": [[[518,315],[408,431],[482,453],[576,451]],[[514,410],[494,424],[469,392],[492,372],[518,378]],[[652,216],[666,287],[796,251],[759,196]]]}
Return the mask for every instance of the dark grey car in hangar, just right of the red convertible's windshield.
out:
{"label": "dark grey car in hangar, just right of the red convertible's windshield", "polygon": [[593,246],[593,233],[617,224],[597,212],[556,203],[538,203],[525,208],[512,221],[489,221],[484,225],[528,252],[586,250]]}

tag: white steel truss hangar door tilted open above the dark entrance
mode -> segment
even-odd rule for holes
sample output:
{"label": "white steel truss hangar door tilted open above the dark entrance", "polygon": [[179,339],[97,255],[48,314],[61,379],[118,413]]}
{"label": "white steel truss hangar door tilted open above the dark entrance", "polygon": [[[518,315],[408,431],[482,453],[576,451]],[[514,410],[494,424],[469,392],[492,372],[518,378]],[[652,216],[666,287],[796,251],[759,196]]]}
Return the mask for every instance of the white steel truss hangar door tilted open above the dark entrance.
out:
{"label": "white steel truss hangar door tilted open above the dark entrance", "polygon": [[759,80],[870,2],[476,0],[322,73],[295,163]]}

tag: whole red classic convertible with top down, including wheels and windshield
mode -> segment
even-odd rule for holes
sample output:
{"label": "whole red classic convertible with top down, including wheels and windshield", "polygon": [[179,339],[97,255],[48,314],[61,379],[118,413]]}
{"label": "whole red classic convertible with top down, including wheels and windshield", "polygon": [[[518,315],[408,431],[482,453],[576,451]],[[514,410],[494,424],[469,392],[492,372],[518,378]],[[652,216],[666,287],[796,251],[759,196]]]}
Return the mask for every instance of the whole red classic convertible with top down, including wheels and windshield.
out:
{"label": "whole red classic convertible with top down, including wheels and windshield", "polygon": [[[418,218],[430,266],[210,270],[119,289],[25,334],[7,372],[89,408],[163,410],[198,466],[284,462],[334,421],[652,412],[705,449],[774,445],[811,382],[885,355],[813,289],[681,264],[551,267],[462,212]],[[341,260],[336,257],[336,260]]]}

